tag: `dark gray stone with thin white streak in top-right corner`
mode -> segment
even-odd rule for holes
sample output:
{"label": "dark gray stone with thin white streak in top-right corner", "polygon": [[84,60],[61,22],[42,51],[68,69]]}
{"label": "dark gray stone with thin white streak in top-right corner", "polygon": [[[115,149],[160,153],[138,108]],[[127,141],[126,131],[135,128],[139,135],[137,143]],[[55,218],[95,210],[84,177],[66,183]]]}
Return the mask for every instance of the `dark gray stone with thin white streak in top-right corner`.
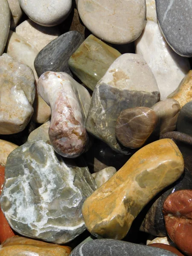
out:
{"label": "dark gray stone with thin white streak in top-right corner", "polygon": [[157,19],[167,43],[181,56],[192,56],[192,2],[155,0]]}

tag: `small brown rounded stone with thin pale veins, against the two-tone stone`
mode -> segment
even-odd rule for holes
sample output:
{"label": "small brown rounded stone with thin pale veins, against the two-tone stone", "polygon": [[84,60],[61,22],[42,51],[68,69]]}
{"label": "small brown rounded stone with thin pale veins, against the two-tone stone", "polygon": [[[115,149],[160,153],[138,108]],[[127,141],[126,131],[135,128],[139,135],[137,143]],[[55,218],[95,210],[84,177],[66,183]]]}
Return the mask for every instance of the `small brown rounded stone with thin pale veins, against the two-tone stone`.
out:
{"label": "small brown rounded stone with thin pale veins, against the two-tone stone", "polygon": [[123,110],[116,121],[117,139],[128,148],[140,148],[157,125],[156,113],[146,107]]}

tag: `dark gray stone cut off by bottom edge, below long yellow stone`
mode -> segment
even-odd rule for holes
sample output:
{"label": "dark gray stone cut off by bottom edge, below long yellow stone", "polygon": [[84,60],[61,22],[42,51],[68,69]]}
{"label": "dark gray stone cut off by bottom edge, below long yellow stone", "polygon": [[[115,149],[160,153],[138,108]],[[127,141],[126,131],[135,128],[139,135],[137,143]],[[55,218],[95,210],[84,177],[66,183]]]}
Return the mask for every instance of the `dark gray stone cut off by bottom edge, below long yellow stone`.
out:
{"label": "dark gray stone cut off by bottom edge, below long yellow stone", "polygon": [[70,256],[175,256],[167,250],[113,239],[98,239],[79,244]]}

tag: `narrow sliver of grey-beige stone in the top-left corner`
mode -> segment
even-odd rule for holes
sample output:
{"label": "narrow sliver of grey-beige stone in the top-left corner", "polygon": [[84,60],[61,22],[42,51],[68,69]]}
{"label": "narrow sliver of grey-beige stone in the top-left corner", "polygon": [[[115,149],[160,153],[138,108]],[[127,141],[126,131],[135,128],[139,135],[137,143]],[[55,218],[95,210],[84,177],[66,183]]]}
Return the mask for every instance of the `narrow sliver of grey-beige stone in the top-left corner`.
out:
{"label": "narrow sliver of grey-beige stone in the top-left corner", "polygon": [[0,1],[0,55],[2,55],[3,50],[6,46],[7,37],[9,34],[10,27],[10,10],[7,0]]}

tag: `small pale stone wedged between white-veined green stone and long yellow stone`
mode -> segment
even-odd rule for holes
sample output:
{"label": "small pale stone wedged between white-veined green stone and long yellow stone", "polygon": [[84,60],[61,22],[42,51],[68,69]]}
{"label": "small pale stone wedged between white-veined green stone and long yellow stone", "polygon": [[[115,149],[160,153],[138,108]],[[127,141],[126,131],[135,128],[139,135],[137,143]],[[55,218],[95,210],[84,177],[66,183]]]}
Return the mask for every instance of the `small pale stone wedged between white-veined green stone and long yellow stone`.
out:
{"label": "small pale stone wedged between white-veined green stone and long yellow stone", "polygon": [[93,173],[92,176],[95,180],[97,188],[102,186],[106,181],[108,181],[114,174],[116,173],[116,169],[112,166],[106,167],[105,169]]}

